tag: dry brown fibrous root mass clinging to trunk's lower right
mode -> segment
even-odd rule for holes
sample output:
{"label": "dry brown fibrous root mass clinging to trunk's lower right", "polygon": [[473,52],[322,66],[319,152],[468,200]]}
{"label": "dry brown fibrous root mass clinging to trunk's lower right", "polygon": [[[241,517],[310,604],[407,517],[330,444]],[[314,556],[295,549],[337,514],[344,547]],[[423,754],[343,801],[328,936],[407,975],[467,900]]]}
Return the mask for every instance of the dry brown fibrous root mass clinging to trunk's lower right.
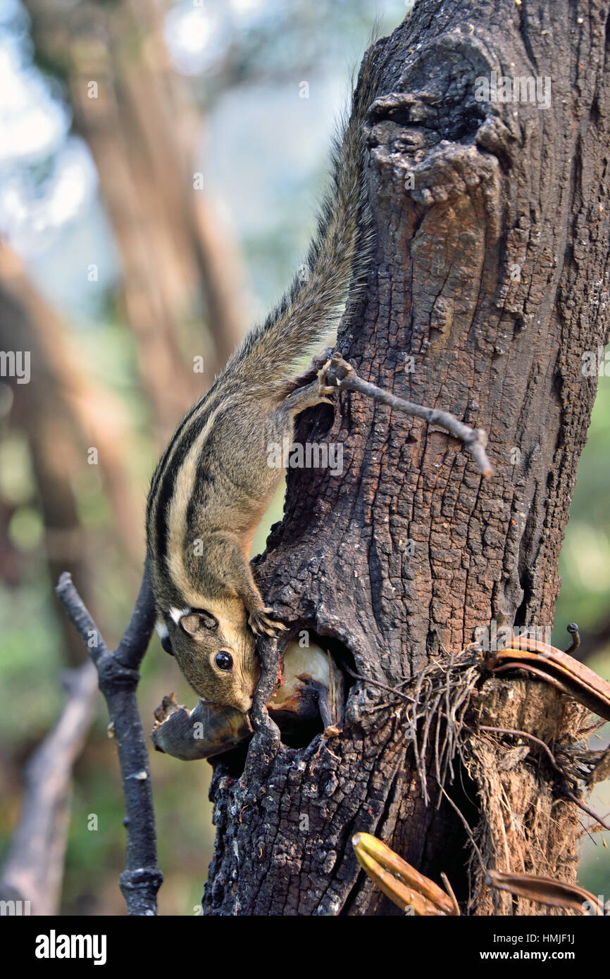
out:
{"label": "dry brown fibrous root mass clinging to trunk's lower right", "polygon": [[583,743],[598,726],[587,709],[538,679],[485,678],[472,650],[449,658],[448,665],[432,664],[404,692],[413,698],[406,731],[424,792],[427,769],[444,788],[456,783],[461,769],[475,788],[479,818],[469,829],[473,912],[577,913],[492,890],[485,876],[494,869],[575,882],[583,813],[566,796],[582,800],[600,765],[600,753]]}

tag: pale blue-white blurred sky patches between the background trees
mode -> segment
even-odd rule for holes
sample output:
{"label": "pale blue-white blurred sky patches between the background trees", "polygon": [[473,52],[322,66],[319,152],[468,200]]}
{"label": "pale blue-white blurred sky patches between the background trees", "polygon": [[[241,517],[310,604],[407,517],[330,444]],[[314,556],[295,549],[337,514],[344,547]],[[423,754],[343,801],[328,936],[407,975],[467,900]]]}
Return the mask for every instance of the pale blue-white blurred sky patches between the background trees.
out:
{"label": "pale blue-white blurred sky patches between the background trees", "polygon": [[[248,43],[253,30],[272,32],[294,9],[291,0],[178,3],[164,23],[171,63],[205,89],[229,45]],[[370,9],[389,29],[406,10],[403,0],[375,0]],[[0,235],[74,326],[95,328],[106,292],[117,280],[117,251],[98,196],[95,163],[83,140],[70,135],[70,108],[61,86],[32,64],[28,26],[20,0],[0,0]],[[205,174],[209,194],[246,246],[247,266],[248,242],[285,229],[289,215],[296,240],[294,255],[281,270],[285,282],[288,259],[298,263],[305,249],[315,205],[312,182],[323,165],[350,70],[366,46],[367,29],[363,25],[361,38],[348,43],[320,31],[319,51],[311,51],[317,64],[306,79],[308,99],[298,97],[302,79],[291,78],[290,70],[286,76],[287,65],[301,53],[298,31],[279,33],[282,43],[271,46],[268,81],[248,80],[227,89],[206,120],[205,145],[202,141],[194,170]],[[283,70],[280,82],[273,80],[274,68]],[[96,283],[87,279],[90,262],[98,265]],[[250,268],[254,316],[281,289],[277,272],[265,269],[263,260]]]}

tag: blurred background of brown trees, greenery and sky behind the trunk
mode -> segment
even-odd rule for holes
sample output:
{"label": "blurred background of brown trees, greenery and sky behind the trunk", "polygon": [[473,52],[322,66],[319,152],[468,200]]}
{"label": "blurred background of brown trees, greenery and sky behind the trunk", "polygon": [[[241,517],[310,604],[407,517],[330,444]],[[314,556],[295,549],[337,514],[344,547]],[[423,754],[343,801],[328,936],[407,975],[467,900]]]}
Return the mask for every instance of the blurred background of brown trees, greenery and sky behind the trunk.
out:
{"label": "blurred background of brown trees, greenery and sky behind the trunk", "polygon": [[[404,13],[399,0],[0,0],[0,348],[30,350],[32,364],[29,384],[0,382],[0,859],[23,760],[57,717],[62,670],[82,661],[53,596],[58,575],[72,573],[117,639],[158,453],[298,265],[350,71],[375,17],[383,32]],[[603,676],[609,451],[602,377],[553,641],[565,646],[576,620]],[[278,495],[254,552],[280,513]],[[193,703],[155,640],[139,690],[145,729],[169,690]],[[67,913],[123,912],[122,796],[106,723],[99,703],[74,772]],[[167,756],[152,769],[160,912],[193,913],[204,838],[211,851],[211,769]],[[608,792],[602,783],[592,797],[602,814]],[[594,834],[582,882],[607,895],[597,848]]]}

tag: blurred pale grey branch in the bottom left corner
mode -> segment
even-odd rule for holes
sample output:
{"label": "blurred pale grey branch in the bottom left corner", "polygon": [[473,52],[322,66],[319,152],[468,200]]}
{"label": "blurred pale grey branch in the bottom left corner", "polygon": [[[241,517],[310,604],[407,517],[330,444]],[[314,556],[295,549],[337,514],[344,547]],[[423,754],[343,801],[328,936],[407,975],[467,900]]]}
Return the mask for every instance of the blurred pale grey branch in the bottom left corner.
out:
{"label": "blurred pale grey branch in the bottom left corner", "polygon": [[68,697],[59,721],[23,772],[19,822],[0,875],[2,897],[29,902],[31,914],[57,914],[70,823],[72,767],[95,705],[90,663],[64,676]]}

